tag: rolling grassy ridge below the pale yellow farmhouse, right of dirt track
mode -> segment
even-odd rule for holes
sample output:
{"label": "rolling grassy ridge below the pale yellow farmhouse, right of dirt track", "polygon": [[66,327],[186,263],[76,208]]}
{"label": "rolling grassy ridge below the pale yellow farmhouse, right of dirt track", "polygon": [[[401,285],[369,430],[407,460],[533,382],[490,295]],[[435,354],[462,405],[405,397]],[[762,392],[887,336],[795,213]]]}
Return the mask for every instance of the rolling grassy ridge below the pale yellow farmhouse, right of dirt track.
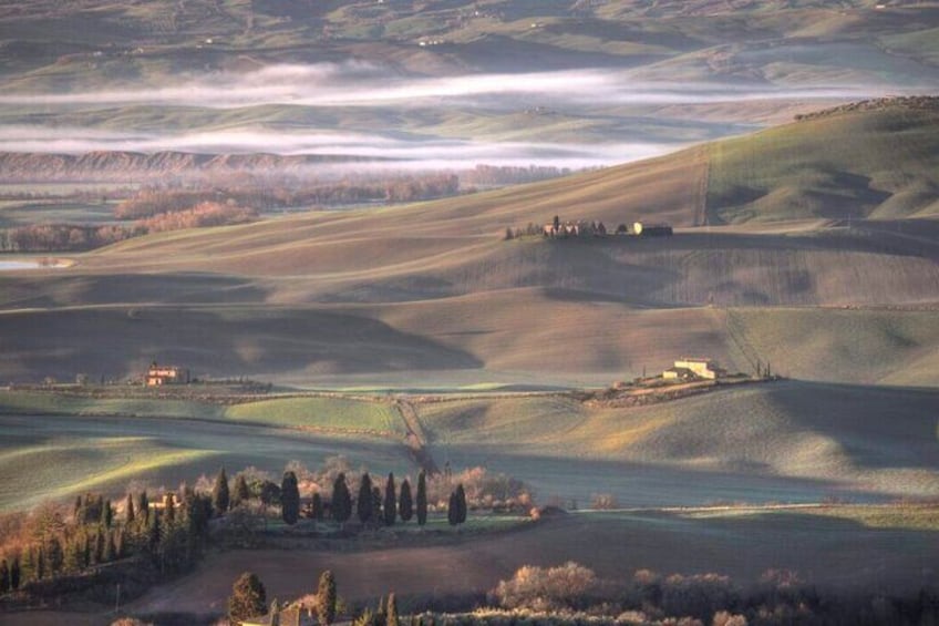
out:
{"label": "rolling grassy ridge below the pale yellow farmhouse, right of dirt track", "polygon": [[784,382],[628,409],[537,397],[420,414],[436,458],[486,459],[541,497],[811,502],[939,494],[935,401],[935,391]]}

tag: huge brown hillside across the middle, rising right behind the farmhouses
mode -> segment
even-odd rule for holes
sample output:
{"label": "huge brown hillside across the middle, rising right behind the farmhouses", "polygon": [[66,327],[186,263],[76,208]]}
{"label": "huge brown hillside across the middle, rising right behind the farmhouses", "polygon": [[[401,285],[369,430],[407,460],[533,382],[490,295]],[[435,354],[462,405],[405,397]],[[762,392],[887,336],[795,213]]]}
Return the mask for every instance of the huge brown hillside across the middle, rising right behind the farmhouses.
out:
{"label": "huge brown hillside across the middle, rising right behind the farmhouses", "polygon": [[[897,129],[905,147],[884,156]],[[939,228],[922,204],[899,207],[909,185],[938,183],[937,129],[932,110],[845,111],[491,193],[131,239],[4,277],[0,371],[71,379],[93,363],[120,377],[158,358],[340,387],[407,387],[409,372],[432,386],[596,384],[693,352],[745,371],[760,359],[799,378],[932,386]],[[840,173],[792,175],[801,154]],[[806,213],[778,189],[809,196],[819,177],[829,195],[879,204],[793,222]],[[733,179],[766,193],[714,204]],[[885,206],[905,217],[878,219]],[[683,229],[502,240],[553,215]],[[705,215],[747,220],[702,227]]]}

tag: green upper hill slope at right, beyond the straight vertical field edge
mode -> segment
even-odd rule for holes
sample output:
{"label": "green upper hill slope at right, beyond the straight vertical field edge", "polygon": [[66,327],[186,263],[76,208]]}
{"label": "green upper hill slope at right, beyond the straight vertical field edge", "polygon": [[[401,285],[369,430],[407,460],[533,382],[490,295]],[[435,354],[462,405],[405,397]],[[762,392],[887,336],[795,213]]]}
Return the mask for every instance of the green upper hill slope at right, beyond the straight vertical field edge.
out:
{"label": "green upper hill slope at right, beyond the straight vertical field edge", "polygon": [[710,147],[712,224],[939,215],[939,110],[788,124]]}

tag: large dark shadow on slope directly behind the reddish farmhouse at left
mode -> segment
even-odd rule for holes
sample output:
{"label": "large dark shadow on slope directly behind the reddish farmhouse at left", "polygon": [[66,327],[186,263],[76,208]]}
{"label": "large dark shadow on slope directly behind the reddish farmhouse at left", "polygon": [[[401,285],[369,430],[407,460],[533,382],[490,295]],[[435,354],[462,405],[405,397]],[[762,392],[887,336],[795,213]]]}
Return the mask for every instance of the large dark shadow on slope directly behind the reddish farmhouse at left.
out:
{"label": "large dark shadow on slope directly behind the reddish farmhouse at left", "polygon": [[3,316],[3,378],[123,378],[156,360],[197,377],[477,369],[467,352],[374,319],[309,309],[135,307]]}

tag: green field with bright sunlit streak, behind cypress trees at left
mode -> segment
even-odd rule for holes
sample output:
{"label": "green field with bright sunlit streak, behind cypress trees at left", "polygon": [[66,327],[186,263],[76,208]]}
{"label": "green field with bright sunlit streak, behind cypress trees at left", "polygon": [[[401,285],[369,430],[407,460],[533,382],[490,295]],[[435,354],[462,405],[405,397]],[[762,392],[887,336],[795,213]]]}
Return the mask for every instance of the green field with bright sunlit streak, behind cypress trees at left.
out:
{"label": "green field with bright sunlit streak, behind cypress trees at left", "polygon": [[0,468],[10,478],[0,489],[6,511],[86,491],[120,497],[132,486],[175,489],[223,465],[231,474],[256,466],[277,480],[291,461],[316,468],[342,455],[353,468],[416,472],[396,438],[188,418],[0,415]]}

